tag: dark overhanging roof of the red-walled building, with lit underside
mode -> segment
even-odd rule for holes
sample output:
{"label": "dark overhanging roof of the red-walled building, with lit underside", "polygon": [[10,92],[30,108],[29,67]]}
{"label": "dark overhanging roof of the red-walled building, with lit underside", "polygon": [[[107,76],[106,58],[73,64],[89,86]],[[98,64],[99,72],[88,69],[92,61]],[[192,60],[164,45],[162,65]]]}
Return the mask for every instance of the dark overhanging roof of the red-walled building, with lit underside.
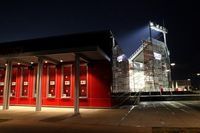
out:
{"label": "dark overhanging roof of the red-walled building, with lit underside", "polygon": [[37,62],[38,57],[71,62],[78,53],[83,61],[108,60],[112,56],[110,31],[63,35],[16,42],[1,43],[0,62]]}

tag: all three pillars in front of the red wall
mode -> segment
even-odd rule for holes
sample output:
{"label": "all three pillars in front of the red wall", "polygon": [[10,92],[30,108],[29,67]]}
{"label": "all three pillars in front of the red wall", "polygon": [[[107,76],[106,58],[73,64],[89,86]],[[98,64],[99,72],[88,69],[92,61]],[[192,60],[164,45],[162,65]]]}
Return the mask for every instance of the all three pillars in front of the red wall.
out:
{"label": "all three pillars in front of the red wall", "polygon": [[[37,84],[36,84],[36,111],[42,109],[42,69],[43,69],[43,58],[38,57],[37,66]],[[10,90],[12,84],[12,61],[10,59],[6,62],[5,72],[5,85],[3,94],[3,110],[9,109],[10,104]],[[79,114],[79,82],[80,82],[80,56],[75,54],[75,90],[74,90],[74,114]]]}

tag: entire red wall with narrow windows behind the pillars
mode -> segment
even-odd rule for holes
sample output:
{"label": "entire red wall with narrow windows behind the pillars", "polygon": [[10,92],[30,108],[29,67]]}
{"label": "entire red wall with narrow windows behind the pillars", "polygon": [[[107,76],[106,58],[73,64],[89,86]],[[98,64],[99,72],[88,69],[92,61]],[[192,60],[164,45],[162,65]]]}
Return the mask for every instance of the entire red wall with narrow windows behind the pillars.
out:
{"label": "entire red wall with narrow windows behind the pillars", "polygon": [[[35,105],[36,67],[13,67],[11,105]],[[0,71],[4,76],[5,70]],[[1,77],[0,77],[1,82]],[[14,83],[15,82],[15,83]],[[80,106],[111,107],[111,66],[107,61],[81,64],[80,67]],[[0,86],[1,91],[1,86]],[[43,65],[42,105],[73,106],[74,65]],[[2,103],[2,97],[0,97]]]}

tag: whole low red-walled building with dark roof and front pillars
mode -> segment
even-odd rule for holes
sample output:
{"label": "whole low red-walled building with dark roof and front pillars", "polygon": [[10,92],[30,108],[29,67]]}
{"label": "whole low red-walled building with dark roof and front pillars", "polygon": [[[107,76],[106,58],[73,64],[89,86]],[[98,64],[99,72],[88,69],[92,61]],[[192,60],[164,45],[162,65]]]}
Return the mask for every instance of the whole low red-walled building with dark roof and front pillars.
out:
{"label": "whole low red-walled building with dark roof and front pillars", "polygon": [[1,43],[0,104],[111,107],[110,31]]}

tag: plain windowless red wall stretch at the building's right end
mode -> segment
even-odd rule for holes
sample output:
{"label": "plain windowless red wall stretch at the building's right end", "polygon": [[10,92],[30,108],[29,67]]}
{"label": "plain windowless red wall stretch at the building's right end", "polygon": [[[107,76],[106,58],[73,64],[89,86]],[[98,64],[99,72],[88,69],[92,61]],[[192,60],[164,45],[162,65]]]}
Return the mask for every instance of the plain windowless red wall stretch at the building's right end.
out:
{"label": "plain windowless red wall stretch at the building's right end", "polygon": [[88,106],[111,106],[111,66],[107,62],[96,62],[88,72]]}

